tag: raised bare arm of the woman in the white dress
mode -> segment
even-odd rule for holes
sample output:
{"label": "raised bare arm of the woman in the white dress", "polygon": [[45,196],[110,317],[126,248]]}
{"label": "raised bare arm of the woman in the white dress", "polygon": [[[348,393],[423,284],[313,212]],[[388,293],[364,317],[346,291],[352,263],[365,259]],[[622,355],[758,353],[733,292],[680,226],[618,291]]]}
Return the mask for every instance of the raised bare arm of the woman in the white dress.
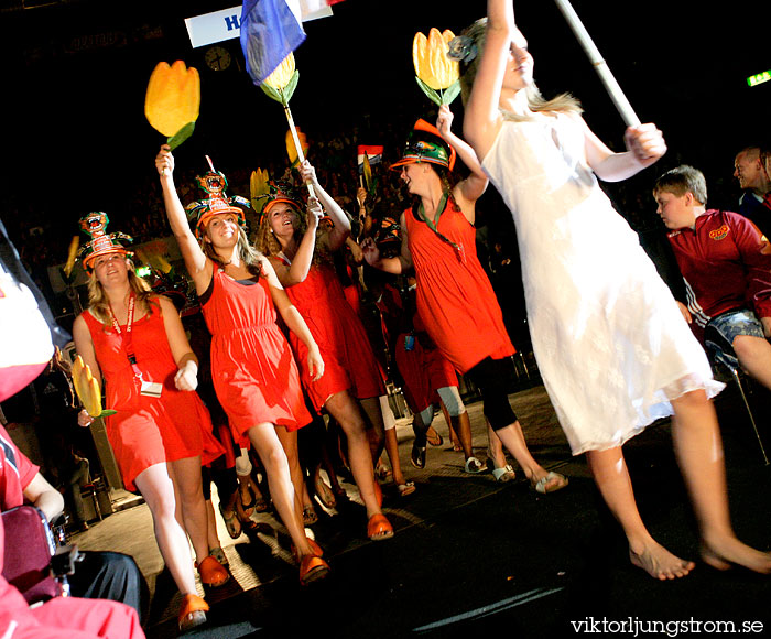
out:
{"label": "raised bare arm of the woman in the white dress", "polygon": [[498,105],[515,29],[512,0],[488,0],[485,48],[464,116],[464,136],[478,158],[487,155],[501,126]]}

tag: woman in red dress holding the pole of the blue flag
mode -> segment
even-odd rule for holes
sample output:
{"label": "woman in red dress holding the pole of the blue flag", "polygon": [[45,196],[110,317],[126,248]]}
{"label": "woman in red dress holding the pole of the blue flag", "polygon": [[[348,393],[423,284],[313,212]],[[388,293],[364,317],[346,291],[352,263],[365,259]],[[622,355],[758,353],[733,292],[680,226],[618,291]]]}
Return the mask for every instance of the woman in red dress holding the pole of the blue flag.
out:
{"label": "woman in red dress holding the pole of the blue flag", "polygon": [[[393,528],[380,509],[362,414],[363,410],[381,438],[379,397],[386,394],[386,389],[365,327],[348,304],[332,262],[332,254],[349,236],[350,225],[339,205],[318,184],[307,161],[301,175],[318,194],[332,227],[317,234],[321,207],[310,207],[307,220],[301,221],[296,197],[274,187],[263,207],[257,246],[270,256],[279,280],[322,349],[324,377],[312,379],[311,371],[301,364],[302,379],[314,408],[328,411],[346,434],[351,472],[367,508],[367,535],[372,540],[388,539],[393,535]],[[296,338],[292,338],[292,346],[302,362],[305,346]]]}

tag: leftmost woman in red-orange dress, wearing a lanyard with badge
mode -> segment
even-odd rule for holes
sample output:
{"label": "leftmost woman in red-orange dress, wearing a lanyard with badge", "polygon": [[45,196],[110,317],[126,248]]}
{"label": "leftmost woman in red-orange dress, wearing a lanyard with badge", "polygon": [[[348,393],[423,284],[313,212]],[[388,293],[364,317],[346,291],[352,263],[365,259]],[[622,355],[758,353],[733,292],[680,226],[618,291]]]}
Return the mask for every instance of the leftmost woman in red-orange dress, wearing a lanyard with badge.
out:
{"label": "leftmost woman in red-orange dress, wearing a lanyard with badge", "polygon": [[[107,435],[129,490],[139,489],[153,517],[159,550],[184,595],[180,627],[206,620],[191,566],[189,534],[202,582],[219,586],[227,571],[209,555],[200,466],[224,453],[197,386],[198,360],[174,304],[137,277],[120,243],[104,232],[105,214],[82,225],[94,239],[84,268],[90,272],[89,307],[73,325],[73,337],[97,380],[106,387]],[[128,238],[130,239],[130,238]],[[93,418],[82,411],[78,423]],[[180,526],[184,523],[185,529]]]}

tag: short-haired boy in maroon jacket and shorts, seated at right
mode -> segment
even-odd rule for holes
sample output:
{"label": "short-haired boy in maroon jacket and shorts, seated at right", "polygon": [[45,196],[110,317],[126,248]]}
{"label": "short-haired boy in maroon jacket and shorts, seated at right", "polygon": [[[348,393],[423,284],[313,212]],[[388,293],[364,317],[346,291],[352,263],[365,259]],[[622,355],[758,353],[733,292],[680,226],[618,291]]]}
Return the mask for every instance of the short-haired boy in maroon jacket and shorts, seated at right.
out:
{"label": "short-haired boy in maroon jacket and shorts, seated at right", "polygon": [[[682,165],[653,187],[687,288],[683,313],[714,355],[771,388],[771,246],[746,217],[707,209],[704,174]],[[732,353],[731,353],[732,351]],[[735,354],[735,357],[734,357]]]}

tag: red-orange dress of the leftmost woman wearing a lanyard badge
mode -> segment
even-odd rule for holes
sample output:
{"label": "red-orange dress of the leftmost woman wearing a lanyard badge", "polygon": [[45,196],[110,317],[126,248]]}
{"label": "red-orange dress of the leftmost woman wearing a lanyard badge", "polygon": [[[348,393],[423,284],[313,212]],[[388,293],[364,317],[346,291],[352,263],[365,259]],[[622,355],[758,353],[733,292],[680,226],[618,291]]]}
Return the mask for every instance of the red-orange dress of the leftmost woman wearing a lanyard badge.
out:
{"label": "red-orange dress of the leftmost woman wearing a lanyard badge", "polygon": [[134,373],[123,349],[121,335],[99,322],[90,311],[83,313],[105,379],[106,408],[118,411],[106,418],[107,437],[128,490],[145,468],[200,455],[209,464],[225,450],[211,434],[211,420],[198,393],[177,390],[177,367],[169,347],[163,315],[158,306],[134,320],[133,348],[142,377],[163,385],[161,397],[139,392]]}

